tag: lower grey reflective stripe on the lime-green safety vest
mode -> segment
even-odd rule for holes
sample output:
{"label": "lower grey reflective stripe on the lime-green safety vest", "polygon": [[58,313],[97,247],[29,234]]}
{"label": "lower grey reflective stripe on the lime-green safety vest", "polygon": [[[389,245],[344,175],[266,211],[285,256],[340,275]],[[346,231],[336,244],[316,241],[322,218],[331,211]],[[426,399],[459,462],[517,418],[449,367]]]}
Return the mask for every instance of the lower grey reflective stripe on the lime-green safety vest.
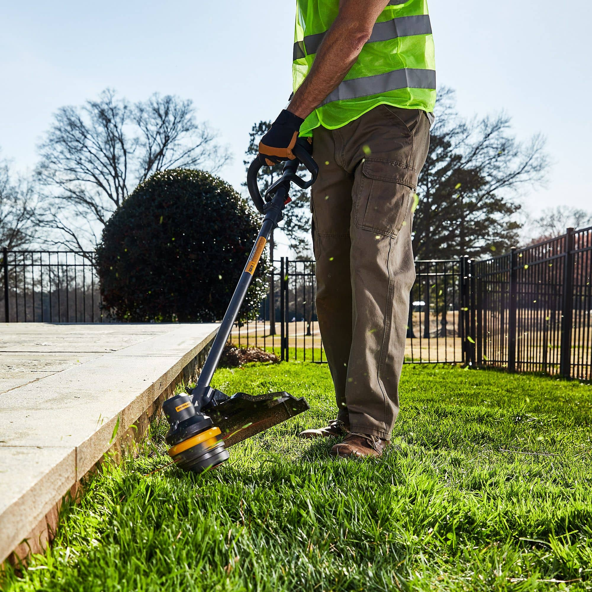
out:
{"label": "lower grey reflective stripe on the lime-green safety vest", "polygon": [[403,68],[385,74],[344,80],[327,96],[321,106],[332,101],[357,99],[361,96],[378,95],[401,88],[436,88],[436,72],[435,70]]}

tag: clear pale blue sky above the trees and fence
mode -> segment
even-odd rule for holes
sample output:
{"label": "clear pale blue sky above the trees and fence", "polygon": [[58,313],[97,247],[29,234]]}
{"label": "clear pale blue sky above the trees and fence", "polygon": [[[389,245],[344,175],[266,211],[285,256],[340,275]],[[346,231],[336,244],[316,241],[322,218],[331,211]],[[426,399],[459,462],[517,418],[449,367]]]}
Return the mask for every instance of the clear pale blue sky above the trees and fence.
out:
{"label": "clear pale blue sky above the trees and fence", "polygon": [[[360,0],[363,1],[363,0]],[[532,214],[568,204],[592,209],[589,0],[432,0],[440,85],[459,110],[504,109],[517,135],[542,131],[553,162]],[[17,169],[36,163],[52,114],[107,86],[136,100],[154,91],[191,98],[234,162],[236,188],[253,122],[273,119],[291,91],[294,0],[2,2],[0,146]]]}

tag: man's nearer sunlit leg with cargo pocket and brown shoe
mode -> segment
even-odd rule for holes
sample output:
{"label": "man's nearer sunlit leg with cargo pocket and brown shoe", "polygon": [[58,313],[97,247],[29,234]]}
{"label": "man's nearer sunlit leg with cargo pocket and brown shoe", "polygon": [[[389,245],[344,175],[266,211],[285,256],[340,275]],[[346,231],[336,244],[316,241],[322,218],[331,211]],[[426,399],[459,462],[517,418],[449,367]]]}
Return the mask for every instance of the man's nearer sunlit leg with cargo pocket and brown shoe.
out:
{"label": "man's nearer sunlit leg with cargo pocket and brown shoe", "polygon": [[399,407],[409,292],[415,278],[411,209],[427,156],[429,121],[423,111],[380,105],[335,133],[347,139],[345,166],[355,175],[350,217],[353,333],[346,403],[350,429],[369,438],[346,440],[334,453],[379,455],[384,441],[390,440]]}

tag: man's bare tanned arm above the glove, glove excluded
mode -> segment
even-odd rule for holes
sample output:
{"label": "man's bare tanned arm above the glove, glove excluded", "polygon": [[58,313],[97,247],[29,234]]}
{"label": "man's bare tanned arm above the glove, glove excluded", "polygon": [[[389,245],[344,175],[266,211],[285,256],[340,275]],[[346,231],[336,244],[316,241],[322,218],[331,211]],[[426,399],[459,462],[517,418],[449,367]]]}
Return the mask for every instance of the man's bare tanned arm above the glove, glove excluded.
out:
{"label": "man's bare tanned arm above the glove, glove excluded", "polygon": [[341,0],[313,66],[294,93],[288,111],[305,119],[339,86],[372,34],[388,0]]}

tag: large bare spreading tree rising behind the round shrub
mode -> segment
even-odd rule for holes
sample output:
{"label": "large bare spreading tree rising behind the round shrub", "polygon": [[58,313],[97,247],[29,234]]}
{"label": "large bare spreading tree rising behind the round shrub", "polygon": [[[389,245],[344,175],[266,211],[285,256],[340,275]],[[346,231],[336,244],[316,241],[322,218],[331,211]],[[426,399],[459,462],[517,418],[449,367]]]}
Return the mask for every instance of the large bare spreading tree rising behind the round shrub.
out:
{"label": "large bare spreading tree rising behind the round shrub", "polygon": [[40,226],[52,244],[94,247],[108,218],[137,184],[171,168],[216,171],[229,153],[195,120],[191,101],[152,95],[130,104],[107,89],[82,107],[62,107],[39,146]]}

